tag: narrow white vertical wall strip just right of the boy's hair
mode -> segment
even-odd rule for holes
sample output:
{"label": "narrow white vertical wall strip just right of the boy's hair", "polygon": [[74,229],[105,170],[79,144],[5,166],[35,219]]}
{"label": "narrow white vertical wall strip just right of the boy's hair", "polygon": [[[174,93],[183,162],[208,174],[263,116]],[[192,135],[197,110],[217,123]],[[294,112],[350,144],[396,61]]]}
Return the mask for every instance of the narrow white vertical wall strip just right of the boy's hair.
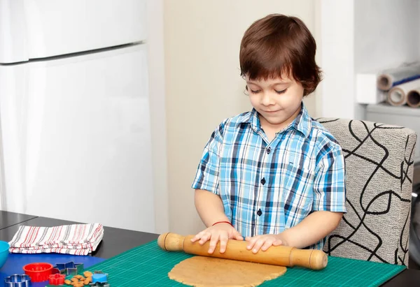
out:
{"label": "narrow white vertical wall strip just right of the boy's hair", "polygon": [[[324,80],[318,95],[322,117],[353,118],[354,19],[352,0],[318,0],[316,25],[320,27]],[[341,101],[341,103],[340,103]]]}

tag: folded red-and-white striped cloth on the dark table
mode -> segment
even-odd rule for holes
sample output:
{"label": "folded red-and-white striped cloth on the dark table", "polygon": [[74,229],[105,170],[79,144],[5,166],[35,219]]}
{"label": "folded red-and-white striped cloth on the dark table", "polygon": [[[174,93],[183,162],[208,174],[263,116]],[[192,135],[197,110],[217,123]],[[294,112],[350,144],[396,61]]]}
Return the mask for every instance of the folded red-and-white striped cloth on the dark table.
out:
{"label": "folded red-and-white striped cloth on the dark table", "polygon": [[87,255],[97,249],[104,237],[100,223],[66,226],[20,226],[9,242],[12,253],[65,253]]}

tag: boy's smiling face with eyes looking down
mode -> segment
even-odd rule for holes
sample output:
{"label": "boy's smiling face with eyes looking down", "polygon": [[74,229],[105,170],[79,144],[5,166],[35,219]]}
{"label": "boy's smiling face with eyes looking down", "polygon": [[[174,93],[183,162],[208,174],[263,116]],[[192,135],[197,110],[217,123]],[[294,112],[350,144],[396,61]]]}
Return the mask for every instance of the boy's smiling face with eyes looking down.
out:
{"label": "boy's smiling face with eyes looking down", "polygon": [[249,80],[246,76],[246,86],[262,126],[285,128],[299,114],[304,89],[293,77]]}

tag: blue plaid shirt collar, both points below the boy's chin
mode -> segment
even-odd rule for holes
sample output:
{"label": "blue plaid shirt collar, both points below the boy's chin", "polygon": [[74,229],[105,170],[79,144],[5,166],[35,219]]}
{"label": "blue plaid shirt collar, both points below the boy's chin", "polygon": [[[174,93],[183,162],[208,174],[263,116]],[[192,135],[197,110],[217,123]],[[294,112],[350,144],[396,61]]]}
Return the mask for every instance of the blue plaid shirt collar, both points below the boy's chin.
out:
{"label": "blue plaid shirt collar, both points below the boy's chin", "polygon": [[[253,108],[251,112],[248,112],[242,119],[238,122],[238,124],[251,124],[251,127],[255,131],[259,131],[261,129],[260,118],[258,117],[258,112]],[[297,117],[293,120],[291,124],[287,128],[295,128],[296,131],[300,131],[304,135],[305,138],[308,137],[311,128],[312,128],[312,119],[309,116],[307,108],[305,107],[304,103],[302,102],[301,109]]]}

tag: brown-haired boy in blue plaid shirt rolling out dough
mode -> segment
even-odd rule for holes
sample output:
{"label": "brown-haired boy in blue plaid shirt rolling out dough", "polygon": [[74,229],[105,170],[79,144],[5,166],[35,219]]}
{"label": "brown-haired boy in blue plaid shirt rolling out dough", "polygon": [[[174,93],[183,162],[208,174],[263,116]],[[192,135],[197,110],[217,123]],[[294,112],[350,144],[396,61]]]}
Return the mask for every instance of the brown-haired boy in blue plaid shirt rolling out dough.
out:
{"label": "brown-haired boy in blue plaid shirt rolling out dough", "polygon": [[239,61],[253,109],[211,134],[193,182],[207,228],[192,241],[210,240],[209,253],[228,239],[254,253],[322,249],[346,212],[342,149],[302,102],[321,81],[315,51],[296,17],[268,15],[246,30]]}

